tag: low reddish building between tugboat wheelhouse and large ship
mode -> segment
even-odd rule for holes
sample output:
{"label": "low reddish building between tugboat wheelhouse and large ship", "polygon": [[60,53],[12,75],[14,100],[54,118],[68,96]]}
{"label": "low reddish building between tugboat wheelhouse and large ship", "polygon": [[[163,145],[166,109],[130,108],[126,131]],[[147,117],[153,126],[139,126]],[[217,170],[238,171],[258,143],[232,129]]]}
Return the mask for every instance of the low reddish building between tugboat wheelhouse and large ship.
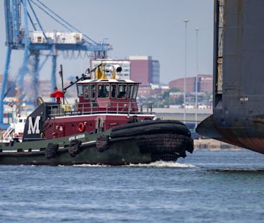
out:
{"label": "low reddish building between tugboat wheelhouse and large ship", "polygon": [[[202,93],[212,93],[212,75],[198,75],[197,91]],[[184,91],[184,78],[179,78],[169,83],[170,89],[176,88]],[[186,77],[186,92],[196,91],[196,77]]]}

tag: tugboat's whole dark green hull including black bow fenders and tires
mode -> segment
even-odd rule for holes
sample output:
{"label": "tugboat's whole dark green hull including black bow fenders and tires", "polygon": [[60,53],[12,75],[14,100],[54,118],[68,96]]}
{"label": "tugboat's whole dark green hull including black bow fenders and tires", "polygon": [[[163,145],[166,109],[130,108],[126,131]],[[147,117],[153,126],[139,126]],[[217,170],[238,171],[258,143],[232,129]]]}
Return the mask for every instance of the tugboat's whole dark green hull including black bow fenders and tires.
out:
{"label": "tugboat's whole dark green hull including black bow fenders and tires", "polygon": [[149,121],[119,126],[98,134],[17,142],[13,146],[1,144],[0,149],[0,164],[116,166],[157,160],[176,161],[178,157],[185,157],[186,151],[192,153],[193,140],[183,124]]}

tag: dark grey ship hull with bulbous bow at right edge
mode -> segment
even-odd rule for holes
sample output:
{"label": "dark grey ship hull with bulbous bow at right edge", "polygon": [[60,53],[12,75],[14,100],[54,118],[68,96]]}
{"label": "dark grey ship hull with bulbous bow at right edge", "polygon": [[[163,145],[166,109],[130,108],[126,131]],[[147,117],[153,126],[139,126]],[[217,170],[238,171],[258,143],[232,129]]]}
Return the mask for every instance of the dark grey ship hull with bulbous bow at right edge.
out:
{"label": "dark grey ship hull with bulbous bow at right edge", "polygon": [[196,132],[264,153],[264,1],[214,1],[213,115]]}

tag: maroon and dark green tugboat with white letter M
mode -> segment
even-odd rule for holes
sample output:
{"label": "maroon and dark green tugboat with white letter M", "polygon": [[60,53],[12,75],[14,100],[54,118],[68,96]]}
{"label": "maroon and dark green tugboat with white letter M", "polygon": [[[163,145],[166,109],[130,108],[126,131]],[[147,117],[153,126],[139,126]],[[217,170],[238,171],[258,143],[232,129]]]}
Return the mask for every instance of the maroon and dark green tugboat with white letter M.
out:
{"label": "maroon and dark green tugboat with white letter M", "polygon": [[[105,75],[101,66],[51,93],[24,123],[24,132],[0,143],[0,164],[125,165],[176,161],[193,152],[193,139],[180,121],[162,121],[136,102],[140,83],[118,79],[122,68]],[[92,77],[92,74],[94,74]],[[66,103],[66,90],[76,86],[78,98]],[[13,137],[12,137],[13,136]]]}

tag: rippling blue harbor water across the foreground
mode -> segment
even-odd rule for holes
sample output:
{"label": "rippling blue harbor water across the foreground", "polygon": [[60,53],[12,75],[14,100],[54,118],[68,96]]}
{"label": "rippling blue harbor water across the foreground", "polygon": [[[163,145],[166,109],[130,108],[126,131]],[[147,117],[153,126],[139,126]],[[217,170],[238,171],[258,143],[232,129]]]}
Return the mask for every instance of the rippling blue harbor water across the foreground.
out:
{"label": "rippling blue harbor water across the foreground", "polygon": [[0,222],[263,222],[264,155],[198,150],[177,162],[0,166]]}

